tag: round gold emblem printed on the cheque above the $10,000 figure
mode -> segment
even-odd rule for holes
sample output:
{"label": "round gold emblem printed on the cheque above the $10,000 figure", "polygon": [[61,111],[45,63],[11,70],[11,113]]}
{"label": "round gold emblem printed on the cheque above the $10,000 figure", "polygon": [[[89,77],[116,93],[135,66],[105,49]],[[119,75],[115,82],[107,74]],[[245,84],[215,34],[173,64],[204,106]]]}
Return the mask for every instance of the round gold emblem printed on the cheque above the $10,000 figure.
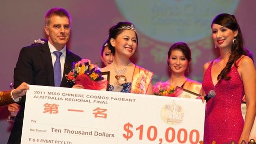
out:
{"label": "round gold emblem printed on the cheque above the $10,000 figure", "polygon": [[163,106],[161,109],[161,119],[169,125],[178,125],[184,119],[182,107],[174,101]]}

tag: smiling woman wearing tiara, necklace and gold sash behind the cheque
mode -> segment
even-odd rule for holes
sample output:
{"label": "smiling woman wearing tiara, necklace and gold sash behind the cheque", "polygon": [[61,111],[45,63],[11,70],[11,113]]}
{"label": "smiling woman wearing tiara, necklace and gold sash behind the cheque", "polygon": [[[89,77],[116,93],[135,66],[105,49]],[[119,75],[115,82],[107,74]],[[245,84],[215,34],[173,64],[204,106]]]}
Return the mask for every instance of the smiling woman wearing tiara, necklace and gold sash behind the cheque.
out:
{"label": "smiling woman wearing tiara, necklace and gold sash behind the cheque", "polygon": [[109,91],[153,94],[153,73],[130,61],[138,46],[134,25],[119,22],[112,26],[109,29],[108,46],[114,54],[114,61],[101,71],[110,72]]}

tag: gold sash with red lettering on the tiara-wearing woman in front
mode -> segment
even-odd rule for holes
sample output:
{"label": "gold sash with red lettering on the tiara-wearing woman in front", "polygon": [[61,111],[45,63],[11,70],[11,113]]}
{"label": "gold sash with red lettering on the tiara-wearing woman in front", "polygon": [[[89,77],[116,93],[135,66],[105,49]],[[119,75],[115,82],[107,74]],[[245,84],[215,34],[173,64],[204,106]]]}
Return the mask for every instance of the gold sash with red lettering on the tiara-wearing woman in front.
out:
{"label": "gold sash with red lettering on the tiara-wearing woman in front", "polygon": [[153,72],[135,65],[134,74],[132,76],[131,93],[146,94],[153,75]]}

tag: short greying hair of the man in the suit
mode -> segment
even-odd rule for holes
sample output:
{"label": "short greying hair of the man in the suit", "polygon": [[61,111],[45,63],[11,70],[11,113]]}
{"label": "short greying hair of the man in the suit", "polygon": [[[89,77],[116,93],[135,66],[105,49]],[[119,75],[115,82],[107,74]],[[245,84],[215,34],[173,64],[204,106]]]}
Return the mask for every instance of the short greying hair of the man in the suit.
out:
{"label": "short greying hair of the man in the suit", "polygon": [[54,7],[45,13],[45,26],[50,24],[50,18],[53,15],[69,18],[69,23],[71,26],[71,16],[70,16],[69,12],[66,9],[63,9],[61,7]]}

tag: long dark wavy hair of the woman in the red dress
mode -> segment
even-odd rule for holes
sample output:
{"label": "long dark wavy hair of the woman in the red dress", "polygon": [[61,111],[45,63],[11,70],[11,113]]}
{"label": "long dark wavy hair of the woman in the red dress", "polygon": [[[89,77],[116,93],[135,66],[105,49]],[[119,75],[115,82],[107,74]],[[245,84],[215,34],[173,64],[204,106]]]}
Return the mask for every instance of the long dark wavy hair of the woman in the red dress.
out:
{"label": "long dark wavy hair of the woman in the red dress", "polygon": [[228,13],[221,13],[213,19],[211,23],[211,28],[213,24],[219,24],[230,30],[238,32],[237,36],[235,37],[236,41],[234,41],[234,43],[231,46],[231,54],[228,59],[228,63],[223,68],[223,70],[221,71],[217,78],[218,81],[220,81],[221,79],[229,80],[231,77],[228,76],[228,73],[230,72],[232,65],[234,64],[237,68],[236,61],[242,55],[248,55],[246,50],[243,48],[243,35],[237,23],[236,17],[234,15],[230,15]]}

